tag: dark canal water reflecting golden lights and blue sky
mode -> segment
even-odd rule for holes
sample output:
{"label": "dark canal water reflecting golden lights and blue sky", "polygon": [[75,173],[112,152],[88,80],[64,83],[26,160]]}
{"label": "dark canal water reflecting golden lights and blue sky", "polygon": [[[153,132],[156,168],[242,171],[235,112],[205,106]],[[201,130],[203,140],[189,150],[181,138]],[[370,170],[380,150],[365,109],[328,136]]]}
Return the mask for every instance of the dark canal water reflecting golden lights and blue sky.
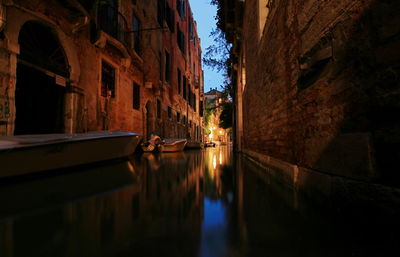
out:
{"label": "dark canal water reflecting golden lights and blue sky", "polygon": [[313,206],[229,146],[3,184],[0,198],[1,257],[399,253],[398,226]]}

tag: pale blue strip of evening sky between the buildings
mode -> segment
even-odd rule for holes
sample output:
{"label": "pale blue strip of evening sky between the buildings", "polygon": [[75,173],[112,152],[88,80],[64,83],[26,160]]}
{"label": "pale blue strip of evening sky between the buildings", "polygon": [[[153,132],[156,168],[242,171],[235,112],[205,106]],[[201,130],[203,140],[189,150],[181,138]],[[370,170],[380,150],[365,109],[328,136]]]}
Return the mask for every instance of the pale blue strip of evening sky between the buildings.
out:
{"label": "pale blue strip of evening sky between the buildings", "polygon": [[[197,33],[201,39],[201,49],[204,56],[207,47],[213,44],[210,33],[216,28],[215,15],[217,13],[217,8],[210,4],[210,0],[189,0],[189,3],[194,19],[197,22]],[[222,90],[221,85],[223,85],[224,81],[223,75],[204,64],[203,70],[204,92],[208,92],[211,88]]]}

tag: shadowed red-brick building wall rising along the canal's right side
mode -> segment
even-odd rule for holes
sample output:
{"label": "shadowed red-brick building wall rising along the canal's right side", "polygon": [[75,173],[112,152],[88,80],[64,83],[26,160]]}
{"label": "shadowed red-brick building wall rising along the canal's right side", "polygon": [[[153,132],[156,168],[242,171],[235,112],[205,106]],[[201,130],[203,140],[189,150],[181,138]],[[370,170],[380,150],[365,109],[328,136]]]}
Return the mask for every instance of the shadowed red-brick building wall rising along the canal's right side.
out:
{"label": "shadowed red-brick building wall rising along the canal's right side", "polygon": [[237,149],[321,194],[400,186],[399,3],[218,2]]}

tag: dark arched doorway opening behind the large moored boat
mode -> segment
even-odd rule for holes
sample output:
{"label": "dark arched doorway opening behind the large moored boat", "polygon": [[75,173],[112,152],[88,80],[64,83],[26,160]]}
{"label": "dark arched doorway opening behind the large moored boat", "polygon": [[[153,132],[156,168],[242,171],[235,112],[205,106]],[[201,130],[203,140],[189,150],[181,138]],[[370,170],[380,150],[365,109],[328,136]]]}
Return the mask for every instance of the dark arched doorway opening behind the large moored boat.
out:
{"label": "dark arched doorway opening behind the large moored boat", "polygon": [[64,132],[69,68],[57,36],[40,23],[27,22],[20,30],[18,43],[14,134]]}

